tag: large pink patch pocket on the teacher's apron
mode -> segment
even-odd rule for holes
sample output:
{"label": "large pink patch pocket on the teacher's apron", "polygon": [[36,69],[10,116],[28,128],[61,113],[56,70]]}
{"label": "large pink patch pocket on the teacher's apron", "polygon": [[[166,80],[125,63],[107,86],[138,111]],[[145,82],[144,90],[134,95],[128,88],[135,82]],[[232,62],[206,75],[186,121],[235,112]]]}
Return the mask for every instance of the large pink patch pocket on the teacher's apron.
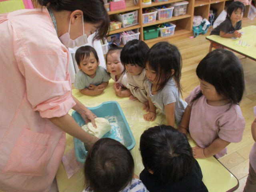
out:
{"label": "large pink patch pocket on the teacher's apron", "polygon": [[42,176],[50,160],[49,139],[50,134],[41,134],[22,128],[4,172]]}

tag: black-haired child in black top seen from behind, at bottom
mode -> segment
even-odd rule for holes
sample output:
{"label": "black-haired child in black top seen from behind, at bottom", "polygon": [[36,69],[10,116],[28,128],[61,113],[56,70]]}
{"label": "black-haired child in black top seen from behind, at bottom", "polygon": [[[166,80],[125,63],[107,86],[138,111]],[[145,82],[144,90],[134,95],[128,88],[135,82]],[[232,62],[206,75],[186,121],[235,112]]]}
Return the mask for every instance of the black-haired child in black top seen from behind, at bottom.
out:
{"label": "black-haired child in black top seen from behind, at bottom", "polygon": [[140,153],[145,167],[140,180],[150,192],[208,192],[188,138],[172,126],[145,130]]}

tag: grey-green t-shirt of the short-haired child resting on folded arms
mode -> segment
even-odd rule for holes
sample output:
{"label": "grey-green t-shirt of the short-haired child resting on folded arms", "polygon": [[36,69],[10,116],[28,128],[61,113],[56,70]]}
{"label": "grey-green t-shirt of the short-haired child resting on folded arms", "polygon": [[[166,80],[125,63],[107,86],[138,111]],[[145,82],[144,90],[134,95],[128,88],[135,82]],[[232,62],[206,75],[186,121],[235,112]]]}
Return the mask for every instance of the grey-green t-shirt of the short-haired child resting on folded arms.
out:
{"label": "grey-green t-shirt of the short-haired child resting on folded arms", "polygon": [[94,78],[90,78],[82,70],[79,70],[75,76],[74,86],[76,87],[76,89],[81,90],[84,88],[88,88],[90,84],[97,86],[102,82],[108,82],[108,80],[110,80],[110,75],[108,74],[106,69],[102,66],[98,66],[96,70],[96,76]]}

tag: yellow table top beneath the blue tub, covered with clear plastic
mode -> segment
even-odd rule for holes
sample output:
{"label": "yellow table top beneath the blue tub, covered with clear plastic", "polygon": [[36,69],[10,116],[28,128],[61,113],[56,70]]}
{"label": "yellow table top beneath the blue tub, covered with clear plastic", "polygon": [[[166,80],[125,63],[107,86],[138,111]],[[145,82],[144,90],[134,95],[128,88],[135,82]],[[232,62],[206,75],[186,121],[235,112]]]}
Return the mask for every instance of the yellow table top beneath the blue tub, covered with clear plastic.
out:
{"label": "yellow table top beneath the blue tub, covered with clear plastic", "polygon": [[[132,134],[134,135],[136,144],[131,150],[131,154],[135,163],[135,174],[139,175],[143,170],[139,148],[139,140],[143,131],[151,126],[159,123],[165,123],[165,117],[157,110],[157,118],[154,122],[148,122],[143,119],[142,110],[143,104],[138,101],[130,101],[128,98],[120,98],[114,93],[114,81],[110,80],[109,85],[104,90],[103,94],[98,96],[85,96],[78,90],[72,90],[73,95],[80,100],[87,107],[94,107],[100,105],[102,102],[116,101],[119,103],[126,120],[130,126]],[[69,114],[73,110],[70,110]],[[139,126],[138,126],[139,124]],[[190,145],[196,146],[192,138],[189,137]],[[66,134],[66,150],[65,153],[74,150],[73,137]],[[216,158],[210,157],[206,159],[197,159],[203,173],[203,182],[208,188],[209,192],[226,192],[233,191],[238,188],[238,180],[232,175]],[[68,179],[63,163],[61,162],[58,172],[56,174],[58,188],[60,192],[82,192],[84,189],[84,174],[82,166],[78,171]]]}

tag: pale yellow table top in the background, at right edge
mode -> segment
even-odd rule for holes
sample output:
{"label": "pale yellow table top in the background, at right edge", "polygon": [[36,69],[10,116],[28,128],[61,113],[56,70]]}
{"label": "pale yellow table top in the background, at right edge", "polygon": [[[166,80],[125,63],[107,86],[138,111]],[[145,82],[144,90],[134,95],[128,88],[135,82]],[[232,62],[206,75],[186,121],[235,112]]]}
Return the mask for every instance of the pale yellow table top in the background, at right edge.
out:
{"label": "pale yellow table top in the background, at right edge", "polygon": [[[221,44],[222,46],[242,54],[252,60],[256,60],[256,26],[247,26],[243,27],[240,32],[244,32],[241,38],[233,39],[233,38],[222,38],[218,35],[210,35],[207,36],[206,39]],[[243,41],[250,44],[248,47],[236,46],[235,42],[238,40]]]}

